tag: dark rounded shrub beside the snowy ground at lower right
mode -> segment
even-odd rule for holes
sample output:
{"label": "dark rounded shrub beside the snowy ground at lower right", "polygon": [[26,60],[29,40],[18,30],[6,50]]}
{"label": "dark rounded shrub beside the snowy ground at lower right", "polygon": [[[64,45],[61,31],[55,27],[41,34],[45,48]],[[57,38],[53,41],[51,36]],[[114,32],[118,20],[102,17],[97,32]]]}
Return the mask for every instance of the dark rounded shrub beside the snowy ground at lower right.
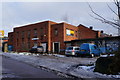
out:
{"label": "dark rounded shrub beside the snowy ground at lower right", "polygon": [[115,51],[113,54],[115,56],[98,58],[94,71],[104,74],[118,74],[120,72],[120,51]]}

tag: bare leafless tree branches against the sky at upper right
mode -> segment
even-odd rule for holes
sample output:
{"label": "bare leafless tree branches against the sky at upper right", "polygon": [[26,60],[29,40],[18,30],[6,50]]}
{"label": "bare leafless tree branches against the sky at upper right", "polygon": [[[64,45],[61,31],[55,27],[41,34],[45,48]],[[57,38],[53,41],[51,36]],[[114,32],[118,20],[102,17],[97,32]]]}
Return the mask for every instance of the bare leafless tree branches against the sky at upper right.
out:
{"label": "bare leafless tree branches against the sky at upper right", "polygon": [[93,18],[101,21],[102,23],[107,23],[109,25],[112,25],[114,28],[118,29],[118,36],[120,36],[120,0],[114,0],[114,5],[116,6],[117,10],[113,10],[108,4],[108,8],[117,16],[116,19],[113,20],[108,20],[105,19],[103,16],[99,15],[98,13],[96,13],[93,8],[91,7],[91,5],[88,3],[92,13],[95,15],[90,15]]}

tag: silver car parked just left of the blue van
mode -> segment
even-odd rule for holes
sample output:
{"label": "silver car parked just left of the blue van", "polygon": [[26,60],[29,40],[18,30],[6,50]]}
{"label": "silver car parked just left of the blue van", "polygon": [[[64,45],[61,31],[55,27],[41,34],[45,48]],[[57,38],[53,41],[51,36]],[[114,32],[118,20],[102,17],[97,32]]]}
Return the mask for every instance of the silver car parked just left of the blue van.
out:
{"label": "silver car parked just left of the blue van", "polygon": [[79,50],[80,50],[80,47],[77,47],[77,46],[67,47],[65,50],[65,55],[66,56],[77,56],[77,53]]}

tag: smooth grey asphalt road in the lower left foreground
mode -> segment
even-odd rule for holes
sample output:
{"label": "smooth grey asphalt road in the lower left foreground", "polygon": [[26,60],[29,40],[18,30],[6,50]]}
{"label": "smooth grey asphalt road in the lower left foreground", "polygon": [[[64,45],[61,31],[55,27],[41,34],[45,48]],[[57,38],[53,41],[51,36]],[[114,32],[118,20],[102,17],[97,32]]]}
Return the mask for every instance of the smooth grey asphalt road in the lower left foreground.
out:
{"label": "smooth grey asphalt road in the lower left foreground", "polygon": [[[2,74],[8,74],[14,77],[20,78],[61,78],[60,76],[42,70],[40,68],[33,67],[31,65],[25,64],[13,60],[11,58],[2,57]],[[14,76],[13,76],[14,75]]]}

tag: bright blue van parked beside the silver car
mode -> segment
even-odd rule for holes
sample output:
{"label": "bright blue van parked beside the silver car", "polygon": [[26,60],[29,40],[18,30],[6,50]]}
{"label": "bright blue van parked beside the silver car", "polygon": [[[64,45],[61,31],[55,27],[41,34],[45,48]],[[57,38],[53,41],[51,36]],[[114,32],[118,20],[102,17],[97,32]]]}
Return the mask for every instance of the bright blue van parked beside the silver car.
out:
{"label": "bright blue van parked beside the silver car", "polygon": [[80,45],[80,55],[100,56],[101,51],[95,44],[83,43]]}

